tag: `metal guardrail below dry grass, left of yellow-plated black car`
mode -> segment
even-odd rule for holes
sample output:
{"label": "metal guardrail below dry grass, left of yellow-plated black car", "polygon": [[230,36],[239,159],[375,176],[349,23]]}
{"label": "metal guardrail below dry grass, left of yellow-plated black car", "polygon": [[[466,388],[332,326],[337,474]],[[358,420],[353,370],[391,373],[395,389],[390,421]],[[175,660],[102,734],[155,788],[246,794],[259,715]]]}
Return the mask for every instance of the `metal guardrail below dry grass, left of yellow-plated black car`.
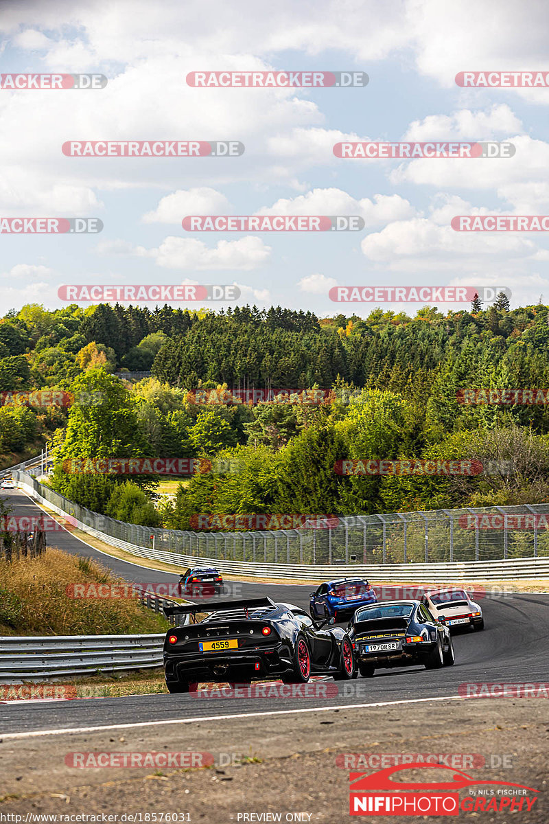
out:
{"label": "metal guardrail below dry grass, left of yellow-plated black car", "polygon": [[161,667],[165,633],[0,638],[0,683]]}

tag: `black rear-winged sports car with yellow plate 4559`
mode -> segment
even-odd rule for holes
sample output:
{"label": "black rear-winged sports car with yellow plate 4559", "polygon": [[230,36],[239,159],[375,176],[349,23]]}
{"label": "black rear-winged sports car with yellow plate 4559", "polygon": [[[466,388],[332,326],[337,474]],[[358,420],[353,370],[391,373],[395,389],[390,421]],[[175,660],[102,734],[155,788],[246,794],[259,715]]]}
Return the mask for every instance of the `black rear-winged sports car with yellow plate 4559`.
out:
{"label": "black rear-winged sports car with yellow plate 4559", "polygon": [[[164,671],[170,692],[204,681],[250,683],[277,678],[306,683],[311,676],[337,680],[355,675],[351,640],[333,618],[314,621],[298,606],[271,598],[166,606],[165,615],[210,611],[198,623],[166,634]],[[214,611],[215,610],[215,611]],[[192,685],[192,686],[191,686]]]}

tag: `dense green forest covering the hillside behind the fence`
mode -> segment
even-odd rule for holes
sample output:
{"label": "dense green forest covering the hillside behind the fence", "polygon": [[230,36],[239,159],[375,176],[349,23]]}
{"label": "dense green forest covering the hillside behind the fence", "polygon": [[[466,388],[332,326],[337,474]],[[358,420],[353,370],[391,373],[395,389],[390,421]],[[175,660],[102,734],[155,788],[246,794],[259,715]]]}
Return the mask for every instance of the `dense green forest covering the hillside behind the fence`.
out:
{"label": "dense green forest covering the hillside behind the fence", "polygon": [[[542,503],[547,405],[463,404],[460,390],[547,389],[548,353],[549,308],[511,311],[505,295],[485,309],[423,307],[410,317],[376,308],[365,318],[322,320],[281,307],[31,304],[0,320],[0,453],[49,438],[56,489],[122,520],[168,527],[188,527],[193,513]],[[123,381],[124,370],[152,377]],[[5,396],[45,387],[76,400],[40,407]],[[252,404],[242,395],[221,403],[227,388],[323,392],[318,403],[306,394],[291,403]],[[99,403],[79,400],[93,392]],[[216,457],[214,466],[228,471],[193,475],[159,506],[157,477],[63,470],[72,458],[143,456]],[[501,468],[452,477],[337,475],[336,461],[352,458],[475,459]]]}

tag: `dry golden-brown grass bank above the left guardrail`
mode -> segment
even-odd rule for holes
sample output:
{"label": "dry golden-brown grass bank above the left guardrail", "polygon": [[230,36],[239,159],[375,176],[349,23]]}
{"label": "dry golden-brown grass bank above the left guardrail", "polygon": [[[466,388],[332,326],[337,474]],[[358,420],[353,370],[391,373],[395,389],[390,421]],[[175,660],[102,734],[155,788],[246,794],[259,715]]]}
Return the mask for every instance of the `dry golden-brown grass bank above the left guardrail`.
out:
{"label": "dry golden-brown grass bank above the left guardrail", "polygon": [[35,559],[0,560],[0,634],[96,635],[164,632],[170,625],[137,598],[74,598],[75,583],[125,583],[89,558],[48,549]]}

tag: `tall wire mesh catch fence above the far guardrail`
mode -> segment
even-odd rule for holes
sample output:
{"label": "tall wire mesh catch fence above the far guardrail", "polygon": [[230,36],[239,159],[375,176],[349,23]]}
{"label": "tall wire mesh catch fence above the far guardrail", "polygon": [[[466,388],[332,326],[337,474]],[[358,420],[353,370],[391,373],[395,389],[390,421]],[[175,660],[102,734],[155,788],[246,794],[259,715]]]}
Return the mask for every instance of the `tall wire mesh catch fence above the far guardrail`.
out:
{"label": "tall wire mesh catch fence above the far guardrail", "polygon": [[190,559],[294,566],[447,564],[549,557],[549,504],[545,503],[355,515],[305,522],[298,529],[197,532],[116,521],[72,503],[26,472],[16,471],[13,476],[69,520],[72,517],[116,541],[151,550],[151,556],[161,552]]}

